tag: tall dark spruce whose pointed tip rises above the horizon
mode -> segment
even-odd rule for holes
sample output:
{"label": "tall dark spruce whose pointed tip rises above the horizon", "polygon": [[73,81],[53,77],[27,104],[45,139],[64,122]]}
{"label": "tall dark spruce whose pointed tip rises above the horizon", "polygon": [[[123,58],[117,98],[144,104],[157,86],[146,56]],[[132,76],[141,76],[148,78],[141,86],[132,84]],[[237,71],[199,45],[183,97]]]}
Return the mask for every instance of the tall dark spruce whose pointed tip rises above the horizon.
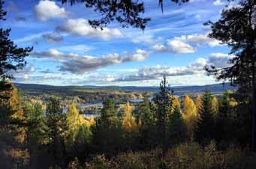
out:
{"label": "tall dark spruce whose pointed tip rises above the horizon", "polygon": [[158,132],[158,143],[161,144],[164,149],[167,146],[167,124],[168,117],[172,110],[172,98],[173,90],[168,86],[166,77],[161,81],[159,92],[154,98],[156,105],[155,117],[156,117],[156,127]]}

